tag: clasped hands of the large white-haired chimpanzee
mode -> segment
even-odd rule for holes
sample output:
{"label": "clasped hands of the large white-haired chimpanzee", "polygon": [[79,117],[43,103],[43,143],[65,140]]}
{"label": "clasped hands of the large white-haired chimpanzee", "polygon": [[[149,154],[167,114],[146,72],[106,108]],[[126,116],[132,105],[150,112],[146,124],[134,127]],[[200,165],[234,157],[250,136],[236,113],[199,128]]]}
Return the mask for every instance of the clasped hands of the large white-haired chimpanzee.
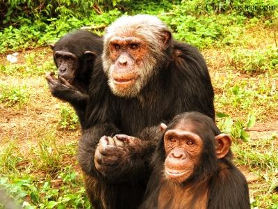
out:
{"label": "clasped hands of the large white-haired chimpanzee", "polygon": [[101,137],[95,150],[95,167],[104,176],[115,176],[122,171],[131,155],[140,146],[140,139],[117,134],[115,137]]}

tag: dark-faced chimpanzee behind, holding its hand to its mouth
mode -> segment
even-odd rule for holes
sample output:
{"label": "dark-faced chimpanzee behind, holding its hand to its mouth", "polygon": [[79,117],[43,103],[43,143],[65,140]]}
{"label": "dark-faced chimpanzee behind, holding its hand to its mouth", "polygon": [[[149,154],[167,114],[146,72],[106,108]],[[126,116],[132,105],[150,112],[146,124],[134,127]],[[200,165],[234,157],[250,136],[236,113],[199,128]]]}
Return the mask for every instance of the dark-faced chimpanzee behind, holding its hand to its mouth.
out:
{"label": "dark-faced chimpanzee behind, holding its hand to its mouth", "polygon": [[50,46],[58,68],[58,79],[54,77],[54,72],[48,73],[46,79],[49,88],[54,97],[72,104],[82,126],[93,63],[103,50],[102,38],[78,30],[67,33]]}

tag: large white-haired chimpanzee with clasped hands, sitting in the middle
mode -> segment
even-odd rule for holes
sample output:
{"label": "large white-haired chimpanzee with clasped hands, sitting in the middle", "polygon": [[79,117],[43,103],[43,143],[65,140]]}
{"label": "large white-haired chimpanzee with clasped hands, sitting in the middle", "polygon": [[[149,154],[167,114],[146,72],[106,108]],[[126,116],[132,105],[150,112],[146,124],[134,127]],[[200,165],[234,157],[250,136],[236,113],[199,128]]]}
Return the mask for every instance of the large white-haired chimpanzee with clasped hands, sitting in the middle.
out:
{"label": "large white-haired chimpanzee with clasped hands, sitting in the middle", "polygon": [[158,126],[183,111],[214,118],[213,87],[197,49],[173,40],[151,15],[121,17],[108,26],[79,141],[79,164],[95,208],[138,208]]}

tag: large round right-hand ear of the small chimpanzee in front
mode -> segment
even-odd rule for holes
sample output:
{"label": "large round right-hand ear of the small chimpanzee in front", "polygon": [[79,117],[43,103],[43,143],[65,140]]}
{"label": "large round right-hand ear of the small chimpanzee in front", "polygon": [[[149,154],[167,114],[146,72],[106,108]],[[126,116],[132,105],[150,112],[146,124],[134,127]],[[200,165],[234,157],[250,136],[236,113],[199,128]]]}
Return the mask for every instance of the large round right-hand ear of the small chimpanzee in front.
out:
{"label": "large round right-hand ear of the small chimpanzee in front", "polygon": [[228,134],[219,134],[215,137],[216,140],[216,157],[221,159],[225,157],[230,150],[231,137]]}

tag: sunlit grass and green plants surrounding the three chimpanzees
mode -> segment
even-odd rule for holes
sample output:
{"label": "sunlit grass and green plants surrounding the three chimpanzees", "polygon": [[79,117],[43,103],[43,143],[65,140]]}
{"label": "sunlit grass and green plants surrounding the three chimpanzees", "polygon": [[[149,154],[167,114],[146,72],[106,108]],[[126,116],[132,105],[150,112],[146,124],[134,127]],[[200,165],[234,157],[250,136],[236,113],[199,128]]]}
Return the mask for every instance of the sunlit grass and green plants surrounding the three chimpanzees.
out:
{"label": "sunlit grass and green plants surrounding the three chimpanzees", "polygon": [[82,26],[101,35],[121,15],[138,13],[157,15],[174,38],[202,51],[217,123],[233,137],[251,206],[278,208],[276,0],[0,0],[0,208],[12,200],[23,208],[90,208],[76,163],[78,118],[44,79],[56,71],[47,45]]}

